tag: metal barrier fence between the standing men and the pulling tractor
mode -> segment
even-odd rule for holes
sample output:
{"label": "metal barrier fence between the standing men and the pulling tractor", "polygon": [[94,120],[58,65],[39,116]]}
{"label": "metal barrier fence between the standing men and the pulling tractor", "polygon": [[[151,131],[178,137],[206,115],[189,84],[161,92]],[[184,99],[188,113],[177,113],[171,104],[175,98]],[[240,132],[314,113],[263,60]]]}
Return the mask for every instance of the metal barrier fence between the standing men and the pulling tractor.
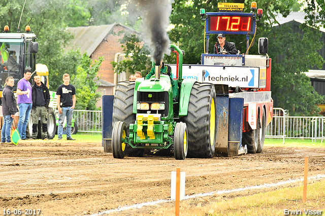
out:
{"label": "metal barrier fence between the standing men and the pulling tractor", "polygon": [[78,131],[102,133],[102,111],[74,110],[73,117],[77,122]]}

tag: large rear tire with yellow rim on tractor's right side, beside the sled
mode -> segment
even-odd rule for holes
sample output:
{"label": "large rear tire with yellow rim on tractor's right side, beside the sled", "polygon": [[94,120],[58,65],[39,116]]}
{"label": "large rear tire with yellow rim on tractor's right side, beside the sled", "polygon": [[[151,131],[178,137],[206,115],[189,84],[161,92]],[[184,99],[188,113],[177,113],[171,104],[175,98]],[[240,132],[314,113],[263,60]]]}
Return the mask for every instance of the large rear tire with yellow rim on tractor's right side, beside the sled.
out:
{"label": "large rear tire with yellow rim on tractor's right side, beside the sled", "polygon": [[188,136],[187,157],[212,158],[216,142],[216,95],[208,83],[194,83],[189,97],[186,123]]}

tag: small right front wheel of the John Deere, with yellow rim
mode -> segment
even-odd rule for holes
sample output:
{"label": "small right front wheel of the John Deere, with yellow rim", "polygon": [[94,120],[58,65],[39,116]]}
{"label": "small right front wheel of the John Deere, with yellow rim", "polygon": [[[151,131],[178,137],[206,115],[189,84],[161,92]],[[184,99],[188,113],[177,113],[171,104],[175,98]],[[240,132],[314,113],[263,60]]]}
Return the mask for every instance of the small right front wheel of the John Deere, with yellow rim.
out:
{"label": "small right front wheel of the John Deere, with yellow rim", "polygon": [[188,150],[187,127],[183,122],[176,123],[174,133],[174,156],[176,160],[185,160]]}

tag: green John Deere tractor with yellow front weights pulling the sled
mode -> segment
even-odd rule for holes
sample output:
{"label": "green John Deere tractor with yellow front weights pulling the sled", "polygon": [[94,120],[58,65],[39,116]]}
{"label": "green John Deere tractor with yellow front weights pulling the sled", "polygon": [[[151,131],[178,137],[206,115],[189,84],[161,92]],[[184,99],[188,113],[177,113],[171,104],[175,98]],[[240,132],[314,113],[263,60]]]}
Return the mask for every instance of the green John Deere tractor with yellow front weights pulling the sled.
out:
{"label": "green John Deere tractor with yellow front weights pulling the sled", "polygon": [[[173,102],[171,80],[155,66],[149,80],[119,82],[113,103],[114,158],[142,156],[145,149],[186,157],[210,158],[216,142],[216,94],[209,83],[182,79],[183,53],[178,57],[178,101]],[[177,73],[178,72],[178,73]]]}

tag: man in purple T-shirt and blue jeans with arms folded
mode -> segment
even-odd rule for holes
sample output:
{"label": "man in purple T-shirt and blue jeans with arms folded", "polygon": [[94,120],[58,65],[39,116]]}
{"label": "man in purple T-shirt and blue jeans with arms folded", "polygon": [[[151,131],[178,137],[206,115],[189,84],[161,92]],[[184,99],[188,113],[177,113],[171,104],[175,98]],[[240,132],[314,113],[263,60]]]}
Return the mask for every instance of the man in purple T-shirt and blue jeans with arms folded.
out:
{"label": "man in purple T-shirt and blue jeans with arms folded", "polygon": [[24,77],[17,84],[17,103],[19,107],[18,131],[21,139],[26,139],[26,127],[29,121],[32,100],[31,85],[28,80],[31,77],[31,69],[25,68]]}

